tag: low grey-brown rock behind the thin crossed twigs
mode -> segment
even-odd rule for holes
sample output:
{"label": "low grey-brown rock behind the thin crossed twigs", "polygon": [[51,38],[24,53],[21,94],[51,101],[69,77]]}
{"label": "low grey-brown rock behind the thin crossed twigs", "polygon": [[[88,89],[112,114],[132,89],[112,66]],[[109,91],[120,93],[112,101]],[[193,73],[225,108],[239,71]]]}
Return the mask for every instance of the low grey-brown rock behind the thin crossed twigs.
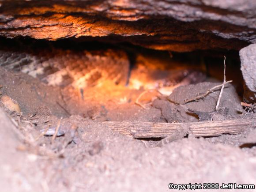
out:
{"label": "low grey-brown rock behind the thin crossed twigs", "polygon": [[[221,87],[214,90],[214,93],[211,92],[206,97],[201,98],[198,101],[192,101],[188,103],[185,103],[185,101],[196,98],[198,95],[206,93],[207,90],[210,90],[212,87],[215,87],[219,84],[221,83],[203,82],[196,85],[181,86],[173,90],[173,93],[170,94],[168,99],[172,102],[185,105],[185,107],[188,109],[192,109],[196,112],[213,112],[214,114]],[[184,97],[181,97],[181,95],[184,95]],[[239,113],[239,111],[242,111],[240,99],[236,93],[235,88],[230,84],[225,86],[222,98],[220,100],[219,109],[225,108],[228,110],[228,115],[225,115],[226,119],[232,119],[241,116],[241,113]]]}

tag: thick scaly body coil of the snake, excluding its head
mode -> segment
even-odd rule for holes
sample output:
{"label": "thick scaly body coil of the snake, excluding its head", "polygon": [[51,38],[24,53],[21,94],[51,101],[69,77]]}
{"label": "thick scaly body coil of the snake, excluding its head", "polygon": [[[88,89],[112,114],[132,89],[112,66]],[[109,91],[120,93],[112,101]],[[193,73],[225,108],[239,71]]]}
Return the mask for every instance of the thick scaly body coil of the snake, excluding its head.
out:
{"label": "thick scaly body coil of the snake, excluding its head", "polygon": [[128,79],[127,55],[119,50],[69,50],[56,48],[7,48],[0,50],[0,66],[21,71],[48,85],[95,86],[111,79],[125,84]]}

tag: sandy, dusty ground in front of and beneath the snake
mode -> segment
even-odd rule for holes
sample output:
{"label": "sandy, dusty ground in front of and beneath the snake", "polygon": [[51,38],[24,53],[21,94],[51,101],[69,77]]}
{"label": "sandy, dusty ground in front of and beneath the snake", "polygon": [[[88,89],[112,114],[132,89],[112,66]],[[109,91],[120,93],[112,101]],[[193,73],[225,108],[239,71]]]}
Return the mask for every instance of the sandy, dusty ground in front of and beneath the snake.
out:
{"label": "sandy, dusty ground in front of and beneath the snake", "polygon": [[[101,124],[122,120],[196,122],[198,116],[186,113],[174,103],[194,97],[215,84],[179,87],[168,98],[147,94],[141,99],[147,106],[143,109],[135,104],[142,90],[94,87],[85,90],[81,98],[72,89],[48,87],[37,79],[3,68],[0,76],[3,85],[0,92],[17,101],[23,112],[12,113],[0,104],[3,191],[155,192],[172,191],[169,183],[256,184],[255,129],[210,138],[188,135],[163,147],[154,147],[159,139],[133,139]],[[216,93],[185,106],[211,112]],[[255,113],[244,111],[230,85],[225,88],[221,107],[228,112],[218,113],[215,120],[256,118]],[[41,130],[56,127],[65,135],[54,140],[42,136]]]}

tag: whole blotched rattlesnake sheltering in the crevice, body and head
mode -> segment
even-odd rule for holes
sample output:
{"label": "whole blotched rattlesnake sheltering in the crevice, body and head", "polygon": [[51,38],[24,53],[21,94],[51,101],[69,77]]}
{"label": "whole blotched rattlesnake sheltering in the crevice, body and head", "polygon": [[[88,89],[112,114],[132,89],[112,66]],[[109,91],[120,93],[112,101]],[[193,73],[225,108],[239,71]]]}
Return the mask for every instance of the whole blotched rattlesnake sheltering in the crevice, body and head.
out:
{"label": "whole blotched rattlesnake sheltering in the crevice, body and head", "polygon": [[[119,49],[88,50],[83,47],[70,49],[67,46],[58,47],[49,42],[29,43],[28,45],[20,44],[19,41],[15,42],[18,43],[1,45],[0,66],[27,73],[52,86],[84,88],[97,86],[106,80],[126,85],[130,80],[133,87],[136,87],[134,82],[138,82],[139,78],[144,78],[144,81],[147,81],[145,73],[152,74],[150,70],[143,70],[144,75],[142,73],[140,75],[138,72],[141,69],[137,67],[132,71],[132,75],[129,75],[130,62],[127,53]],[[184,82],[186,76],[188,77],[186,84],[196,82],[201,78],[201,76],[195,78],[198,73],[190,71],[181,71],[170,77],[168,74],[173,73],[165,72],[164,74],[165,78],[162,80],[165,83],[160,84],[169,86],[170,82],[172,82],[171,85],[182,80]],[[133,79],[128,79],[129,77]],[[152,88],[152,82],[150,83],[146,87]],[[154,84],[159,85],[159,82],[153,82]]]}

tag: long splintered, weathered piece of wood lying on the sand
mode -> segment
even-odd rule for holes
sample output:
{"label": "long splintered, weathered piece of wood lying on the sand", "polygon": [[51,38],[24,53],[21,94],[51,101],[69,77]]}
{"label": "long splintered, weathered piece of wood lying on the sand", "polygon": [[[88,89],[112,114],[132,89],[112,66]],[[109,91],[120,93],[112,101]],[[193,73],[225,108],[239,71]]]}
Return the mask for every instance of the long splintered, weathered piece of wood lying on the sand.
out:
{"label": "long splintered, weathered piece of wood lying on the sand", "polygon": [[105,124],[123,135],[134,138],[165,138],[175,135],[180,130],[195,137],[220,136],[222,134],[239,134],[256,127],[256,119],[236,119],[222,121],[203,121],[192,123],[154,123],[140,121],[106,121]]}

